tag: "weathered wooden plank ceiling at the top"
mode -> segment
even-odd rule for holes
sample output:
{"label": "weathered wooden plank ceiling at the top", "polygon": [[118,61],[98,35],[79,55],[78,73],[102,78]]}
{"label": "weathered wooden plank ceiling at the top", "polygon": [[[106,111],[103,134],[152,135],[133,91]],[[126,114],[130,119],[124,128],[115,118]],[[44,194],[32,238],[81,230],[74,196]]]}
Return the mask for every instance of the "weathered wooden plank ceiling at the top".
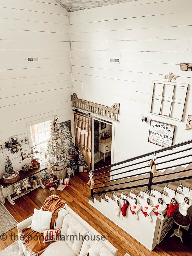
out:
{"label": "weathered wooden plank ceiling at the top", "polygon": [[56,0],[68,12],[90,9],[105,5],[126,3],[137,0]]}

